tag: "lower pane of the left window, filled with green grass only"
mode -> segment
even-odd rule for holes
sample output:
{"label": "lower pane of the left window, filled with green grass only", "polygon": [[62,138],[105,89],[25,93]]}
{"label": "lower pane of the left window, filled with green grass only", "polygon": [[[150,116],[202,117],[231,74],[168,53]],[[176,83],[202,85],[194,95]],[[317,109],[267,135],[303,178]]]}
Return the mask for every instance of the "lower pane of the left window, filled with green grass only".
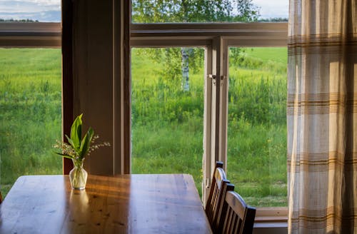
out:
{"label": "lower pane of the left window, filled with green grass only", "polygon": [[16,178],[60,174],[61,49],[0,49],[1,193]]}

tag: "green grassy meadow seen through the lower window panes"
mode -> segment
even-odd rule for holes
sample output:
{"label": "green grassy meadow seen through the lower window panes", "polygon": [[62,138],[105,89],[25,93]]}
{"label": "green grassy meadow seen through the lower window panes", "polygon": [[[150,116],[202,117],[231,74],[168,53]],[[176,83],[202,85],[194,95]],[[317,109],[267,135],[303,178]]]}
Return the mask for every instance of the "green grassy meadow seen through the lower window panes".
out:
{"label": "green grassy meadow seen through the lower window panes", "polygon": [[[250,205],[286,206],[287,50],[231,57],[228,178]],[[183,92],[167,59],[132,50],[132,173],[190,173],[201,193],[203,61]],[[61,173],[52,148],[60,138],[60,49],[0,49],[1,192],[19,175]]]}

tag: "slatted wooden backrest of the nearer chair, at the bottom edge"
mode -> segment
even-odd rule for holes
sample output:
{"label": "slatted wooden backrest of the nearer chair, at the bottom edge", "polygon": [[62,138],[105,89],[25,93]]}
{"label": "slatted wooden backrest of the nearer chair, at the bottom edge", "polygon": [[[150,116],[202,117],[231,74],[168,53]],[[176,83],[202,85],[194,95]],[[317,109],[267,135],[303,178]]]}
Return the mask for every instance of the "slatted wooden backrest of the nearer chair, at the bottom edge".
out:
{"label": "slatted wooden backrest of the nearer chair, at the bottom edge", "polygon": [[226,193],[221,212],[218,233],[253,233],[256,208],[246,205],[238,193]]}

